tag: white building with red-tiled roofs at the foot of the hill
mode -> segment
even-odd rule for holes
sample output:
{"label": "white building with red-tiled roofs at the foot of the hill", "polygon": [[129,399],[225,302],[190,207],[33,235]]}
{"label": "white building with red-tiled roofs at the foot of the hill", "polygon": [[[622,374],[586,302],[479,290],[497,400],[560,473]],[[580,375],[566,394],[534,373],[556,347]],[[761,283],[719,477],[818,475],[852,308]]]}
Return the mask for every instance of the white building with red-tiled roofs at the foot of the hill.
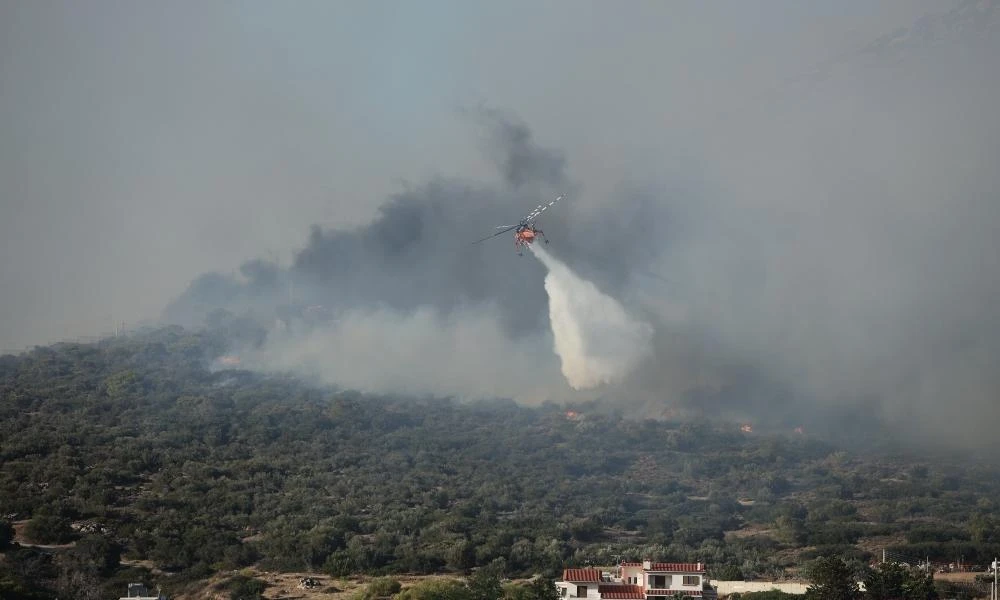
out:
{"label": "white building with red-tiled roofs at the foot of the hill", "polygon": [[674,597],[714,600],[702,563],[622,563],[614,571],[566,569],[556,582],[567,600],[672,600]]}

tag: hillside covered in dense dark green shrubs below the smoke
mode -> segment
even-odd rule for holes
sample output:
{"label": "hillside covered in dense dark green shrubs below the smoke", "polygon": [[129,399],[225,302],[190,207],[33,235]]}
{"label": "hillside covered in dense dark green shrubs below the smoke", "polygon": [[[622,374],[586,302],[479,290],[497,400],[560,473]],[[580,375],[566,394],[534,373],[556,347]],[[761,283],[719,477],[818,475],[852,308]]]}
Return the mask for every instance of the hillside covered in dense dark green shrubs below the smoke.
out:
{"label": "hillside covered in dense dark green shrubs below the smoke", "polygon": [[[599,405],[570,416],[213,372],[226,343],[167,328],[0,357],[0,590],[117,584],[131,561],[173,573],[166,585],[251,564],[388,575],[502,558],[508,575],[551,575],[652,556],[728,578],[881,548],[1000,553],[986,466]],[[74,544],[19,548],[11,523]]]}

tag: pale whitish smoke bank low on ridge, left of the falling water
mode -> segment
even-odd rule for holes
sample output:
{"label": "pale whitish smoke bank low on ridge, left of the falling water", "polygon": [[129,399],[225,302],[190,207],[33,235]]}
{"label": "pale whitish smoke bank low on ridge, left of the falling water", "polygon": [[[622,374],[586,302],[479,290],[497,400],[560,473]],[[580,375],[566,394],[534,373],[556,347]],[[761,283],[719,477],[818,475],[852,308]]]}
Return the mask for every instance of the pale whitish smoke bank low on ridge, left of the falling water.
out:
{"label": "pale whitish smoke bank low on ridge, left of the falling water", "polygon": [[442,314],[352,309],[306,332],[278,328],[240,349],[241,367],[291,371],[372,393],[513,398],[537,403],[558,391],[547,332],[511,341],[488,306]]}

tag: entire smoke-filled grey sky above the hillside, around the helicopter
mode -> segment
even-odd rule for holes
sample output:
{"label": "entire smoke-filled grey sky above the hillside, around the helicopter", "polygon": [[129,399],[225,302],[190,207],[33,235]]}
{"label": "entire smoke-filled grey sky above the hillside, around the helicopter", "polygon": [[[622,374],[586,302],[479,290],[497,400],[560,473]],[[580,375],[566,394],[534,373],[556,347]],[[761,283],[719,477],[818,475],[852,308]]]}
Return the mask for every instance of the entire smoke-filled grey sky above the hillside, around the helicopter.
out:
{"label": "entire smoke-filled grey sky above the hillside, around the helicopter", "polygon": [[[503,6],[0,5],[0,348],[169,295],[347,387],[996,447],[996,2]],[[559,194],[648,353],[470,244]]]}

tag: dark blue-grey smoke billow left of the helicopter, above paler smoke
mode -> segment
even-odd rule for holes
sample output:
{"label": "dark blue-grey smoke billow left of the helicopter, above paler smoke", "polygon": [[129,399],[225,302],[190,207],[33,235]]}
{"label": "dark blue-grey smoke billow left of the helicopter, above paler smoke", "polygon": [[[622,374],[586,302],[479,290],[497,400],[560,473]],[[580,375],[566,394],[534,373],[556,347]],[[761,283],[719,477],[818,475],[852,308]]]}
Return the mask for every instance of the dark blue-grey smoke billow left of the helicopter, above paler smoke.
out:
{"label": "dark blue-grey smoke billow left of the helicopter, above paler smoke", "polygon": [[[516,221],[534,206],[543,193],[539,188],[555,193],[559,188],[547,184],[565,180],[561,167],[512,170],[511,164],[526,157],[553,168],[560,163],[554,153],[534,144],[523,123],[499,113],[482,118],[488,119],[496,166],[505,177],[500,185],[438,178],[408,189],[390,198],[368,225],[346,231],[314,227],[281,276],[253,262],[241,269],[245,282],[217,275],[200,278],[167,308],[167,318],[199,323],[205,309],[219,301],[241,309],[260,301],[264,312],[281,302],[333,310],[381,304],[398,311],[433,307],[443,312],[493,302],[505,330],[536,330],[542,324],[544,291],[517,282],[537,277],[538,266],[516,261],[501,240],[470,244],[494,225]],[[528,183],[534,184],[533,191],[512,189]]]}

